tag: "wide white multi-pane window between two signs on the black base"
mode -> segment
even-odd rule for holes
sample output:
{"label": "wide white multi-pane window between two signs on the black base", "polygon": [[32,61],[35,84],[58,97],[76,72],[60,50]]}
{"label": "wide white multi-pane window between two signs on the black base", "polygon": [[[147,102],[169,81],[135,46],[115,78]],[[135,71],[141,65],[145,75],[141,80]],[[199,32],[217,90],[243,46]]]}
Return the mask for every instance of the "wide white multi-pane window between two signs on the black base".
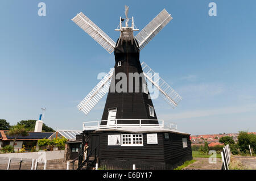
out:
{"label": "wide white multi-pane window between two signs on the black base", "polygon": [[121,146],[143,146],[142,133],[139,134],[122,134]]}

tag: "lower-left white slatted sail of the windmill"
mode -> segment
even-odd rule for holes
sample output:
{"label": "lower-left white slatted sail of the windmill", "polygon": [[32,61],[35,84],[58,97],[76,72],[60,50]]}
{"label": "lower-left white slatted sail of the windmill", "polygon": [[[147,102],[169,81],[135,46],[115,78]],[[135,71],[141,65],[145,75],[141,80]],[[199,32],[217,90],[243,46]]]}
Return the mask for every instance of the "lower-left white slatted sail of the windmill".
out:
{"label": "lower-left white slatted sail of the windmill", "polygon": [[80,111],[84,112],[87,115],[90,110],[101,100],[101,98],[109,91],[110,82],[113,76],[114,69],[111,69],[108,74],[93,88],[92,91],[84,100],[80,102],[77,106]]}

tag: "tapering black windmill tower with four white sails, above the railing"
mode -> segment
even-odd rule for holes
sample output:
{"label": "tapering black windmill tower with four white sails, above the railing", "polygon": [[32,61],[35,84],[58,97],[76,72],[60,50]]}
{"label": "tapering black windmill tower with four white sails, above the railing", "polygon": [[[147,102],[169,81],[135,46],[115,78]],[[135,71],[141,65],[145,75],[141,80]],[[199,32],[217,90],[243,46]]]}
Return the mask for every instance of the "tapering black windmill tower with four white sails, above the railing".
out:
{"label": "tapering black windmill tower with four white sails, above the railing", "polygon": [[[111,69],[108,74],[94,87],[88,95],[85,96],[84,100],[78,105],[80,111],[84,112],[87,115],[94,106],[101,100],[101,98],[107,93],[108,98],[106,100],[104,113],[102,115],[102,120],[107,120],[109,118],[109,113],[112,115],[110,117],[119,118],[119,119],[157,119],[155,111],[154,116],[150,116],[150,108],[152,110],[152,101],[150,99],[144,98],[145,96],[135,93],[125,93],[121,92],[116,94],[116,92],[110,92],[110,85],[116,84],[117,81],[112,79],[113,75],[117,75],[120,72],[126,73],[141,73],[143,72],[142,82],[146,78],[147,82],[149,81],[154,85],[158,90],[160,95],[170,106],[173,108],[181,100],[181,96],[175,92],[171,86],[169,86],[162,78],[158,77],[156,79],[156,73],[152,70],[145,62],[140,63],[139,61],[139,52],[157,35],[165,26],[172,20],[172,16],[163,9],[146,27],[143,28],[136,36],[133,35],[134,31],[139,31],[134,26],[134,18],[131,18],[131,26],[129,27],[129,18],[128,18],[129,7],[125,6],[125,19],[120,17],[119,26],[115,31],[120,32],[120,37],[115,43],[106,33],[104,33],[96,24],[92,22],[87,16],[80,12],[73,18],[75,22],[82,30],[84,30],[88,35],[90,35],[94,40],[97,41],[104,49],[106,49],[110,54],[115,53],[115,67]],[[125,23],[123,21],[125,20]],[[123,24],[125,26],[123,26]],[[114,76],[115,77],[115,76]],[[147,83],[146,83],[147,85]],[[147,87],[139,85],[141,89],[147,90]],[[128,87],[128,86],[127,86]],[[127,88],[129,89],[129,87]],[[134,98],[140,99],[140,103],[136,103],[131,99],[131,96]],[[119,98],[123,98],[119,100]],[[113,102],[113,100],[116,100]],[[140,107],[137,112],[134,110],[131,111],[129,106]],[[126,105],[126,106],[125,106]],[[147,105],[150,106],[148,111],[146,110]],[[113,108],[112,112],[109,110]],[[118,110],[116,110],[118,108]],[[110,111],[110,112],[109,112]],[[130,111],[130,112],[129,112]],[[139,112],[141,111],[141,112]],[[133,114],[134,113],[134,114]],[[134,116],[133,116],[134,115]],[[137,117],[136,117],[137,116]],[[106,123],[101,123],[106,124]],[[149,123],[150,124],[150,123]]]}

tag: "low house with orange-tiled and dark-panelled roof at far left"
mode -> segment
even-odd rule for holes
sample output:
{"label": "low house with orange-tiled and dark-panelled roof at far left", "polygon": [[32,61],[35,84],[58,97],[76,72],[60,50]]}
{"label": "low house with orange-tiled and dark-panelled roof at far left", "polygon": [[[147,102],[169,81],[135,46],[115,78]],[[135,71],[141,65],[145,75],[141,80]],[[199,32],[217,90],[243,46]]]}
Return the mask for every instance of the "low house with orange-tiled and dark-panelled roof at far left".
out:
{"label": "low house with orange-tiled and dark-panelled roof at far left", "polygon": [[[0,149],[6,145],[13,145],[14,137],[7,134],[8,131],[0,131]],[[48,138],[52,135],[52,132],[28,132],[28,136],[19,136],[16,140],[14,150],[22,148],[24,145],[26,149],[31,149],[37,146],[38,140]]]}

